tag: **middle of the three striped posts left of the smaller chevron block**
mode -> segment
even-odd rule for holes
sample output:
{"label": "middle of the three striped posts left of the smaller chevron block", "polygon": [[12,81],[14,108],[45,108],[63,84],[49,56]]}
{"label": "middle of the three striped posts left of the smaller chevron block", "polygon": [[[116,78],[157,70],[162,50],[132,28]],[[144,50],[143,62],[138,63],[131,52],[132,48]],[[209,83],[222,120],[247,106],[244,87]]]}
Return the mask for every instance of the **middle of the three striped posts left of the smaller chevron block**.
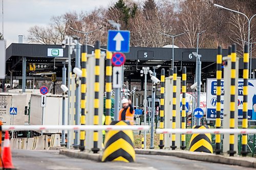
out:
{"label": "middle of the three striped posts left of the smaller chevron block", "polygon": [[[173,74],[173,129],[176,129],[176,94],[177,94],[177,67],[174,66],[174,74]],[[172,134],[172,145],[170,148],[172,150],[175,150],[177,146],[175,145],[175,140],[176,140],[176,134]]]}

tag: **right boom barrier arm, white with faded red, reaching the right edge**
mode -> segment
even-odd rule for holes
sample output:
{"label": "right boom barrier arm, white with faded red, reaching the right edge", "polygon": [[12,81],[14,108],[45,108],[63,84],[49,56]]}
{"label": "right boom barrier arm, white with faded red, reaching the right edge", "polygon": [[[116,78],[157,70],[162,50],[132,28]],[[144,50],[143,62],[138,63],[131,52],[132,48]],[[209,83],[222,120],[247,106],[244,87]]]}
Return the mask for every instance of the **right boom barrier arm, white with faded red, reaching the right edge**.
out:
{"label": "right boom barrier arm, white with faded red, reaching the right edge", "polygon": [[170,134],[256,134],[256,129],[156,129],[156,133]]}

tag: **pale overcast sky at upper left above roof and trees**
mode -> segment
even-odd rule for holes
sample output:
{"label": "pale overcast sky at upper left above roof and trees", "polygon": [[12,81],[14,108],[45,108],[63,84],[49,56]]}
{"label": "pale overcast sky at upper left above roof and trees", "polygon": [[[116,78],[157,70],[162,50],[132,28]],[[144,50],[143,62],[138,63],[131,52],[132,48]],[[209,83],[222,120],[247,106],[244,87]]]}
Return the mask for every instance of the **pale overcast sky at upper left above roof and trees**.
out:
{"label": "pale overcast sky at upper left above roof and trees", "polygon": [[34,25],[46,26],[51,16],[69,11],[91,11],[96,7],[107,7],[117,0],[0,0],[2,32],[2,1],[4,1],[4,38],[9,45],[18,42],[18,35],[24,35]]}

